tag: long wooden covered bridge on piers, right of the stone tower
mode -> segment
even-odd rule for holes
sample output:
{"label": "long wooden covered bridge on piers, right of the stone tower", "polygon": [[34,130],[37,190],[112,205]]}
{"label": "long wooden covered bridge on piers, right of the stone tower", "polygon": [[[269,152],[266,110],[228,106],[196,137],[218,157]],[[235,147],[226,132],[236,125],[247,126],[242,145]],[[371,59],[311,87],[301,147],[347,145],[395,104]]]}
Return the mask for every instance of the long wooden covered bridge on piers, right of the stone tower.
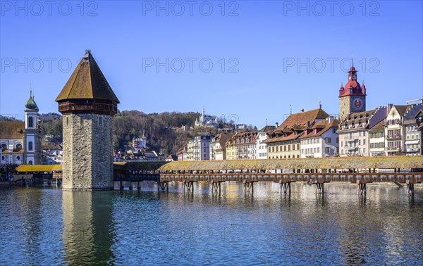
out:
{"label": "long wooden covered bridge on piers, right of the stone tower", "polygon": [[[204,160],[171,163],[122,163],[115,165],[115,181],[139,182],[152,180],[158,189],[168,190],[168,182],[183,182],[184,189],[193,191],[193,182],[212,184],[213,192],[222,182],[243,182],[245,191],[252,191],[255,182],[278,182],[281,192],[290,193],[290,183],[316,184],[317,193],[324,192],[324,183],[351,182],[360,194],[366,184],[395,182],[407,184],[414,194],[414,184],[423,181],[423,156],[301,158],[269,160]],[[156,168],[157,167],[157,168]],[[417,172],[413,172],[417,171]]]}

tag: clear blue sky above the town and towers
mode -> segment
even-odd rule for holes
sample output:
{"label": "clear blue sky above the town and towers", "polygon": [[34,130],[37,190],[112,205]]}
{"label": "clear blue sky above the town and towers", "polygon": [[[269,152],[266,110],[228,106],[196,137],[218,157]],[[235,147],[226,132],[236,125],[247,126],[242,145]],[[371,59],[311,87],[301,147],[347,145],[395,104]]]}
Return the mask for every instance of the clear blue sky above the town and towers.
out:
{"label": "clear blue sky above the town and towers", "polygon": [[18,118],[30,87],[57,112],[85,49],[120,110],[204,106],[262,127],[320,99],[337,114],[351,56],[368,110],[423,97],[422,1],[0,3],[0,113]]}

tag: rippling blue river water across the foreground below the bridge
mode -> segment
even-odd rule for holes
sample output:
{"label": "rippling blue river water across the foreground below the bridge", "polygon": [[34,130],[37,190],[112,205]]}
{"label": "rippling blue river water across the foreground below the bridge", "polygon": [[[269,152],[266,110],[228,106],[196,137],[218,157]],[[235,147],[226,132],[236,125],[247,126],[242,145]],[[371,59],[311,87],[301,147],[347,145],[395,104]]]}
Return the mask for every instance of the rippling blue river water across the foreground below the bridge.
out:
{"label": "rippling blue river water across the foreground below the bridge", "polygon": [[312,265],[423,262],[423,191],[330,184],[198,182],[194,194],[143,182],[141,191],[0,191],[0,265]]}

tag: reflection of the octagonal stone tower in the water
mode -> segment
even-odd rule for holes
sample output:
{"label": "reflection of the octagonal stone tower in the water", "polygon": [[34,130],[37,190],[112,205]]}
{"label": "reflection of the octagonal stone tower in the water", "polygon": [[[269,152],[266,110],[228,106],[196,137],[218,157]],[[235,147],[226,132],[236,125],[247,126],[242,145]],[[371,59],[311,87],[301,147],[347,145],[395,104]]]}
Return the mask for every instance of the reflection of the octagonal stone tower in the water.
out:
{"label": "reflection of the octagonal stone tower in the water", "polygon": [[63,191],[63,249],[66,264],[110,263],[113,191]]}

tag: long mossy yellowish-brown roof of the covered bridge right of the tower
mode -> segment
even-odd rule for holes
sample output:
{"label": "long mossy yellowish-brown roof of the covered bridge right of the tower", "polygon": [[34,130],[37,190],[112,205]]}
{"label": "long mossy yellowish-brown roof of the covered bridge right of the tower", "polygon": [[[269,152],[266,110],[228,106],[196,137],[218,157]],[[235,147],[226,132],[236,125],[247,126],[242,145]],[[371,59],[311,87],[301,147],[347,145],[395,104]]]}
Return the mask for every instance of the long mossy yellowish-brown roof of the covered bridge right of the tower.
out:
{"label": "long mossy yellowish-brown roof of the covered bridge right of the tower", "polygon": [[423,167],[423,156],[191,160],[167,163],[158,170],[383,169],[420,167]]}

